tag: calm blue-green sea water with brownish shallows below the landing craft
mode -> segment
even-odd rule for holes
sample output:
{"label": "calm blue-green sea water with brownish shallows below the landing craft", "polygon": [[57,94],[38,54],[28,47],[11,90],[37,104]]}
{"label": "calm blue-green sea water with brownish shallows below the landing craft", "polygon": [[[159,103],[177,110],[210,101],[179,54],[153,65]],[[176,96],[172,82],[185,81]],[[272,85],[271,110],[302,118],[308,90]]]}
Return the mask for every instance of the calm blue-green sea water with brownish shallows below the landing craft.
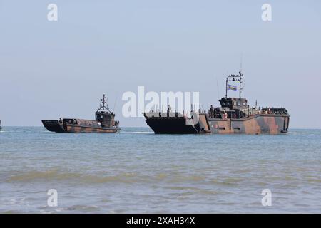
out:
{"label": "calm blue-green sea water with brownish shallows below the landing craft", "polygon": [[[287,135],[0,132],[0,212],[321,212],[321,130]],[[58,206],[49,207],[49,189]],[[272,206],[263,207],[263,189]]]}

